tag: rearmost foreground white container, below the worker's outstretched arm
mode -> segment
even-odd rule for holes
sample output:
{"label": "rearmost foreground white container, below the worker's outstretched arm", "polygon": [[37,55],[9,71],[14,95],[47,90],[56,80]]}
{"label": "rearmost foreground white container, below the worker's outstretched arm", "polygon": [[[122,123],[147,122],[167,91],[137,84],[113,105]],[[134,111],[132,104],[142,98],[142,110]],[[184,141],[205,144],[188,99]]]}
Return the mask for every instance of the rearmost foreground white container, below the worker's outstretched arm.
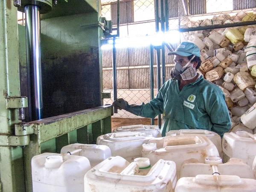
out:
{"label": "rearmost foreground white container, below the worker's outstretched arm", "polygon": [[150,133],[153,137],[162,137],[158,125],[128,125],[115,128],[114,132],[124,132],[124,131],[137,131],[140,133]]}

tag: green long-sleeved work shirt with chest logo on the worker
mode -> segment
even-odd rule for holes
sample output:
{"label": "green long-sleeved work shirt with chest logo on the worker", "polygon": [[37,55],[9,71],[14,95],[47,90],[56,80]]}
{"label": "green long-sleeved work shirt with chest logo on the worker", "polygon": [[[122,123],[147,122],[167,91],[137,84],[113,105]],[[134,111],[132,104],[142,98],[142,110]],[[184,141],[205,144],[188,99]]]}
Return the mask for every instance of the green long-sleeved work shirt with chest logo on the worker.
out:
{"label": "green long-sleeved work shirt with chest logo on the worker", "polygon": [[202,76],[182,90],[179,81],[169,79],[154,99],[141,106],[139,116],[154,118],[163,114],[163,137],[166,132],[179,129],[204,129],[222,137],[231,128],[224,93]]}

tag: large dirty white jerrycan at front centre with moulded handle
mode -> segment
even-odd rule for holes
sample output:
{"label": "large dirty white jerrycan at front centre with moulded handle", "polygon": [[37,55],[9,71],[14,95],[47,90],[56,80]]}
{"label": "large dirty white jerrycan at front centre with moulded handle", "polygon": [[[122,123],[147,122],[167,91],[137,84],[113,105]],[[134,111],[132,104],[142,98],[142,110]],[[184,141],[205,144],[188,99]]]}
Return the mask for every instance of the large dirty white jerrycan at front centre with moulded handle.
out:
{"label": "large dirty white jerrycan at front centre with moulded handle", "polygon": [[84,176],[84,192],[174,192],[177,183],[173,161],[159,160],[141,175],[137,162],[109,157]]}

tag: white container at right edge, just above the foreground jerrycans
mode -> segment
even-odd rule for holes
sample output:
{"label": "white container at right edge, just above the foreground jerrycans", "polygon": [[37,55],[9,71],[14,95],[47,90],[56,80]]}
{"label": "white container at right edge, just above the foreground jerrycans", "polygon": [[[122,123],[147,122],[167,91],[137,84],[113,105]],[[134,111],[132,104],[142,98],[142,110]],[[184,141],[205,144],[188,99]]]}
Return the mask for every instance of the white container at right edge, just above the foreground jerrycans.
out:
{"label": "white container at right edge, just above the foreground jerrycans", "polygon": [[256,103],[241,116],[241,122],[247,128],[256,128]]}

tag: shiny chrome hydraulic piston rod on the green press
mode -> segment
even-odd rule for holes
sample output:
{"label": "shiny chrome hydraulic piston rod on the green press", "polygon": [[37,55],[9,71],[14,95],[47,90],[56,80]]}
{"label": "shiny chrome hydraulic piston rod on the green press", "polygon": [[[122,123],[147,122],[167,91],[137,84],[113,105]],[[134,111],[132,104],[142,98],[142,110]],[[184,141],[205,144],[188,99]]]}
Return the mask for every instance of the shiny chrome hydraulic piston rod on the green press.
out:
{"label": "shiny chrome hydraulic piston rod on the green press", "polygon": [[29,110],[32,120],[42,118],[40,9],[35,5],[25,6],[26,42],[29,79]]}

